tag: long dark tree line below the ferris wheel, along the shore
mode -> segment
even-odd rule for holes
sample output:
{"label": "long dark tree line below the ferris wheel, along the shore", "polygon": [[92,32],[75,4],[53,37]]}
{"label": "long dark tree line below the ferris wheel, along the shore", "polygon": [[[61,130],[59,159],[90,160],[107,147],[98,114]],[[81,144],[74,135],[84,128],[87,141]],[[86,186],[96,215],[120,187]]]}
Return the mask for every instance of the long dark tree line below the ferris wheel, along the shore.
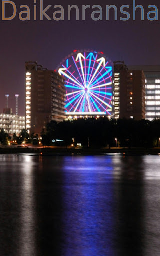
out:
{"label": "long dark tree line below the ferris wheel, along the shore", "polygon": [[68,146],[75,140],[87,147],[115,147],[115,138],[120,147],[156,147],[159,146],[160,120],[135,121],[133,119],[109,120],[108,118],[77,119],[47,124],[42,131],[43,145],[52,145],[56,139],[64,140]]}

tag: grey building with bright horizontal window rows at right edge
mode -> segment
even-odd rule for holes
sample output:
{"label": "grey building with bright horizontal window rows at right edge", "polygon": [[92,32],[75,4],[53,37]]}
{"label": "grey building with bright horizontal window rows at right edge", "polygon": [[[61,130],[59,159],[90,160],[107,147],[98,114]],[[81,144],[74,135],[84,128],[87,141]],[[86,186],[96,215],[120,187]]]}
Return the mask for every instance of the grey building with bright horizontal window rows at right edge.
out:
{"label": "grey building with bright horizontal window rows at right edge", "polygon": [[146,119],[160,118],[160,65],[130,66],[133,70],[143,70],[146,88]]}

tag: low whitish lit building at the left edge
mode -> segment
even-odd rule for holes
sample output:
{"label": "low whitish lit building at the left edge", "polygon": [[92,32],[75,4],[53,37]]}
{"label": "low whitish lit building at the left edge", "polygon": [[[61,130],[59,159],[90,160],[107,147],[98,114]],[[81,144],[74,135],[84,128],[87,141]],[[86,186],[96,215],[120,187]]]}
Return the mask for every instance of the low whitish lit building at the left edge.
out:
{"label": "low whitish lit building at the left edge", "polygon": [[21,130],[25,129],[25,117],[15,114],[0,114],[0,131],[1,129],[10,135],[19,134]]}

